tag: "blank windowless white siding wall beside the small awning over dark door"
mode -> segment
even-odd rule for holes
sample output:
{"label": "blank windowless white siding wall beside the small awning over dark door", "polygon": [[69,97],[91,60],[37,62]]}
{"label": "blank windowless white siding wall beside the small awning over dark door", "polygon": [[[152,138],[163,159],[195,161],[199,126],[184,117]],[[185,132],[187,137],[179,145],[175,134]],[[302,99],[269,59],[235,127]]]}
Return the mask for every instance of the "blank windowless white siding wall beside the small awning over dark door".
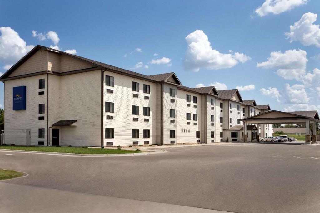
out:
{"label": "blank windowless white siding wall beside the small awning over dark door", "polygon": [[60,144],[100,146],[101,70],[61,76],[60,85],[60,120],[77,120],[60,127]]}

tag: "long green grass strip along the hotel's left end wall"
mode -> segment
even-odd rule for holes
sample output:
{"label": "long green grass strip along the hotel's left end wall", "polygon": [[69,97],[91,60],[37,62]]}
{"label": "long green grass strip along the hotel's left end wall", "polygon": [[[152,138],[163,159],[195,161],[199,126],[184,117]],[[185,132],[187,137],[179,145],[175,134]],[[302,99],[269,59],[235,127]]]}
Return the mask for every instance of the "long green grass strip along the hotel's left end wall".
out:
{"label": "long green grass strip along the hotel's left end wall", "polygon": [[39,151],[39,152],[60,152],[82,155],[94,154],[130,154],[139,153],[142,151],[123,150],[123,149],[107,149],[107,148],[80,148],[80,147],[27,147],[27,146],[0,146],[0,149],[14,149],[24,151]]}

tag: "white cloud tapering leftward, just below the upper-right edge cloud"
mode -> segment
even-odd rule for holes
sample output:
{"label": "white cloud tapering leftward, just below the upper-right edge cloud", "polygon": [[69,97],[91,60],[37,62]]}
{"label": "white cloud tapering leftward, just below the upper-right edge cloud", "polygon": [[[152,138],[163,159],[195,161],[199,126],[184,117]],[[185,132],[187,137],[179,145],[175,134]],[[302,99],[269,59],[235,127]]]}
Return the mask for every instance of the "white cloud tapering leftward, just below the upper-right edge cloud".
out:
{"label": "white cloud tapering leftward, just below the upper-right edge cloud", "polygon": [[299,80],[300,75],[306,73],[307,52],[299,49],[289,49],[271,52],[268,61],[257,63],[257,67],[265,69],[278,69],[277,74],[287,80]]}

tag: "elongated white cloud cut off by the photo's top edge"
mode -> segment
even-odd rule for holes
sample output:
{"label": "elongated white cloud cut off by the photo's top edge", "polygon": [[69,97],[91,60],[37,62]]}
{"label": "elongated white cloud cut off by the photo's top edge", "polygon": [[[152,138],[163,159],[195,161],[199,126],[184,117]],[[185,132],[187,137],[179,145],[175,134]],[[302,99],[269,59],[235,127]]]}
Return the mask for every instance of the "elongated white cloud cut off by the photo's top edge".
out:
{"label": "elongated white cloud cut off by the photo's top edge", "polygon": [[277,15],[307,2],[308,0],[266,0],[255,12],[259,16],[266,16],[269,13]]}

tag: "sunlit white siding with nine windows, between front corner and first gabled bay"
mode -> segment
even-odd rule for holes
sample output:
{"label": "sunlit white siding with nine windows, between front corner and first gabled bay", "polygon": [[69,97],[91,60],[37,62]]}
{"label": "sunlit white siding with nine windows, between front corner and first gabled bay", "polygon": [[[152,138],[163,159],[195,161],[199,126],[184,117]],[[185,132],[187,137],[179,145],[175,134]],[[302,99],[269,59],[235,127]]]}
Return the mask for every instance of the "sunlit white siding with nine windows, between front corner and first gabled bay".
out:
{"label": "sunlit white siding with nine windows, between front corner and first gabled bay", "polygon": [[[115,87],[106,86],[104,82],[104,145],[106,146],[108,141],[113,142],[114,146],[132,145],[133,141],[139,141],[140,145],[143,145],[144,141],[149,141],[149,144],[156,144],[157,84],[108,71],[104,72],[104,75],[115,77]],[[139,92],[132,91],[132,81],[139,83]],[[143,84],[150,86],[150,94],[143,93]],[[107,89],[113,89],[114,91],[113,93],[107,93]],[[133,97],[133,94],[137,94],[139,97]],[[149,100],[144,99],[144,96],[148,96]],[[113,113],[106,112],[105,102],[114,103]],[[132,115],[132,105],[139,106],[139,115]],[[143,107],[150,108],[150,116],[143,115]],[[113,119],[107,119],[107,115],[113,116]],[[133,118],[139,118],[139,120],[133,121]],[[144,118],[148,118],[149,122],[145,122]],[[106,128],[114,129],[114,139],[105,138]],[[139,138],[132,138],[132,129],[139,129]],[[144,129],[150,130],[150,138],[143,138]]]}

